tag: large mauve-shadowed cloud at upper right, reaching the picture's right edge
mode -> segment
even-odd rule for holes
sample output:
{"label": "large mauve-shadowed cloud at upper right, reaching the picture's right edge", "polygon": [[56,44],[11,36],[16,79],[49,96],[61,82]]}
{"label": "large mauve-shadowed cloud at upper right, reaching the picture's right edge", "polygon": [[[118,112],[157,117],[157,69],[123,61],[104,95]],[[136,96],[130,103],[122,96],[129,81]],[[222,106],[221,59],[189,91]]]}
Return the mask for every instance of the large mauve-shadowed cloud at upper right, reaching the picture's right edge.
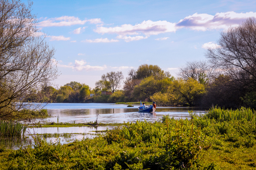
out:
{"label": "large mauve-shadowed cloud at upper right, reaching the picture's right edge", "polygon": [[213,29],[225,29],[227,27],[237,26],[249,17],[256,17],[256,12],[235,13],[223,12],[216,13],[214,16],[209,14],[195,13],[176,24],[176,28],[190,28],[197,31],[206,31]]}

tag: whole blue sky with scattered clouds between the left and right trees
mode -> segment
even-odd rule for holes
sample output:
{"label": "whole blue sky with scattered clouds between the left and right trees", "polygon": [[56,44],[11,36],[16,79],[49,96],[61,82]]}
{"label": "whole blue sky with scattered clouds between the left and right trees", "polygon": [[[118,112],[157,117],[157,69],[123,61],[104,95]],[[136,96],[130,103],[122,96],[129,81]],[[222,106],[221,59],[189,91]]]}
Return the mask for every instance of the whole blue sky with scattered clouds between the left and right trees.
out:
{"label": "whole blue sky with scattered clouds between the left and right trees", "polygon": [[94,88],[102,74],[126,77],[141,64],[176,76],[187,61],[205,60],[222,31],[256,17],[255,0],[36,0],[32,8],[56,50],[58,88]]}

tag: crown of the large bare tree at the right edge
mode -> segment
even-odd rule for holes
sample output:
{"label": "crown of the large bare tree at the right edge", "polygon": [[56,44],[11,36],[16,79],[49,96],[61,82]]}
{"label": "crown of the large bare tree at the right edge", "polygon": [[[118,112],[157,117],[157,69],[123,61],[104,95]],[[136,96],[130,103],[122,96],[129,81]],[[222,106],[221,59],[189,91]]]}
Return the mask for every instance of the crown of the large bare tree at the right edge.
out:
{"label": "crown of the large bare tree at the right edge", "polygon": [[256,19],[249,18],[220,34],[217,48],[208,48],[206,56],[216,68],[229,75],[240,87],[256,85]]}

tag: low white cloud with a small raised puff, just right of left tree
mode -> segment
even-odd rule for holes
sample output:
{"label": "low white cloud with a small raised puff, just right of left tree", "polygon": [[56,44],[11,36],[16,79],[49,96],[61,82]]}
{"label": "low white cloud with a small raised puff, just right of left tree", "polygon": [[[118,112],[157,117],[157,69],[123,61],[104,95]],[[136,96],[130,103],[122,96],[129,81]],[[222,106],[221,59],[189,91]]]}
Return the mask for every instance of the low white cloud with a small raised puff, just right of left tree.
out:
{"label": "low white cloud with a small raised puff, just right of left tree", "polygon": [[69,63],[69,65],[62,65],[58,64],[59,67],[64,67],[64,68],[72,68],[74,71],[91,71],[91,70],[104,70],[107,68],[106,65],[103,66],[91,66],[91,65],[86,65],[85,60],[75,60],[75,64],[73,65],[72,63]]}

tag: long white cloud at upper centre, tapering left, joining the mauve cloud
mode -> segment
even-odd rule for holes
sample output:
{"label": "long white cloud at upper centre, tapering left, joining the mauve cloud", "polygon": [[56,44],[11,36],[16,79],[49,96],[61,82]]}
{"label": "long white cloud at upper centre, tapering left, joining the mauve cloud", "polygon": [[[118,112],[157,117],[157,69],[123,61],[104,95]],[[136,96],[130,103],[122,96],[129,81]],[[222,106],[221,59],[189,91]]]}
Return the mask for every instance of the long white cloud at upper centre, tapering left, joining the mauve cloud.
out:
{"label": "long white cloud at upper centre, tapering left, joining the mauve cloud", "polygon": [[160,33],[175,32],[175,23],[167,21],[143,21],[141,24],[131,25],[124,24],[120,27],[97,27],[93,30],[99,34],[114,33],[118,35],[138,35],[144,33],[145,35],[158,35]]}

